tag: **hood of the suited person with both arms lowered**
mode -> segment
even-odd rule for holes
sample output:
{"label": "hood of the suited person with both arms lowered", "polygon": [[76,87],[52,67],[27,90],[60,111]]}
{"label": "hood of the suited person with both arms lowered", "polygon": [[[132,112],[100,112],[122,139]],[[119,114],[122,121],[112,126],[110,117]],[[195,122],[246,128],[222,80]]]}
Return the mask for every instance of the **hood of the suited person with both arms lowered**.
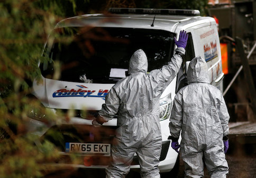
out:
{"label": "hood of the suited person with both arms lowered", "polygon": [[188,83],[203,82],[209,83],[208,66],[205,60],[200,56],[193,58],[189,63],[187,80]]}

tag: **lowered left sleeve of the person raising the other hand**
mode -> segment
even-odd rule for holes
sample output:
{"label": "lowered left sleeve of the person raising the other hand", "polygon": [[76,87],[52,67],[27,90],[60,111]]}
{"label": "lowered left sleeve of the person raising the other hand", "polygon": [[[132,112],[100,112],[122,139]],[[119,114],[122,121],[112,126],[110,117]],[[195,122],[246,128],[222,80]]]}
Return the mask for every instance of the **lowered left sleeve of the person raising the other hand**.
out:
{"label": "lowered left sleeve of the person raising the other hand", "polygon": [[111,120],[118,112],[120,106],[120,97],[118,97],[115,88],[112,87],[106,96],[105,104],[102,105],[102,109],[98,114],[103,117],[106,121]]}

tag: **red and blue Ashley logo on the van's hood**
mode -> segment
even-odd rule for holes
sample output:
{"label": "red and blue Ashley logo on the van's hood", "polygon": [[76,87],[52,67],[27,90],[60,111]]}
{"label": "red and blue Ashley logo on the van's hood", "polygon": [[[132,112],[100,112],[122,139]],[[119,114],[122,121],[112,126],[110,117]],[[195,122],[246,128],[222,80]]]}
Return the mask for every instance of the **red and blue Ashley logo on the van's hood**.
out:
{"label": "red and blue Ashley logo on the van's hood", "polygon": [[[83,85],[77,85],[81,88],[87,88]],[[84,90],[79,88],[78,90],[75,90],[72,88],[71,90],[67,90],[66,88],[57,90],[52,94],[52,97],[101,97],[103,100],[105,100],[106,95],[108,94],[108,90],[102,90],[100,89],[97,93],[95,90]]]}

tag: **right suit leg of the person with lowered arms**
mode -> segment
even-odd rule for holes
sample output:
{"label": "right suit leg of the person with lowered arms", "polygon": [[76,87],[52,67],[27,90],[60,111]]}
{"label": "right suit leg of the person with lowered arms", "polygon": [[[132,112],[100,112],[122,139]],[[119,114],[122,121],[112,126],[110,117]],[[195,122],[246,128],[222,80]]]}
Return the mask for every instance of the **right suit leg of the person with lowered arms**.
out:
{"label": "right suit leg of the person with lowered arms", "polygon": [[228,165],[222,146],[214,146],[205,151],[205,165],[211,177],[226,177]]}

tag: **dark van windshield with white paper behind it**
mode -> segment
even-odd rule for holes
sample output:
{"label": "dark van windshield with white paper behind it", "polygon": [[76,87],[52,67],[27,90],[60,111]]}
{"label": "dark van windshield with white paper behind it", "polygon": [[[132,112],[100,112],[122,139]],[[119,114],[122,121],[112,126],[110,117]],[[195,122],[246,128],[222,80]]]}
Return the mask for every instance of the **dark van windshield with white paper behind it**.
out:
{"label": "dark van windshield with white paper behind it", "polygon": [[[88,27],[87,27],[88,28]],[[132,54],[142,49],[148,57],[148,71],[162,67],[173,54],[174,33],[156,29],[94,27],[59,28],[67,42],[55,40],[41,63],[44,77],[52,78],[57,62],[58,80],[85,83],[116,83],[125,77]],[[65,38],[64,38],[65,39]]]}

